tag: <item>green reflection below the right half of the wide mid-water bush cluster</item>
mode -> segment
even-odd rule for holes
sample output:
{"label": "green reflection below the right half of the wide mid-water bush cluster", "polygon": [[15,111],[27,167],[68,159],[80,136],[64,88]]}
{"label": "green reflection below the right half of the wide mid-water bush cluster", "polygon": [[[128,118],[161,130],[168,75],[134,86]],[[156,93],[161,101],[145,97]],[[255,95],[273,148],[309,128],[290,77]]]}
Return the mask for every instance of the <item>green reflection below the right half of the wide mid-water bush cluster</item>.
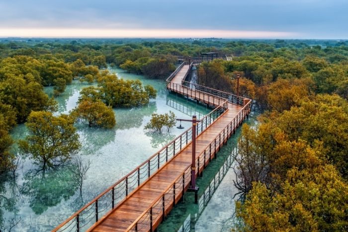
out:
{"label": "green reflection below the right half of the wide mid-water bush cluster", "polygon": [[116,128],[124,130],[140,127],[144,117],[151,116],[156,111],[157,105],[155,102],[150,102],[143,107],[116,110]]}

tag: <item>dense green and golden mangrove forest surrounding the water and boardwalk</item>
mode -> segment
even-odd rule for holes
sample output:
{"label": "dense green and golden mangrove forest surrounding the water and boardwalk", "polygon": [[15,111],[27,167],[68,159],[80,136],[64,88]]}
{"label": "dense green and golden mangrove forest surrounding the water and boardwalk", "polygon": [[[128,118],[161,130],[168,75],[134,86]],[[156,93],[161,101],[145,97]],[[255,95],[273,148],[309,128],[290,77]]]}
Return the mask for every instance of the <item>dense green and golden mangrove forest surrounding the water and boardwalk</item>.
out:
{"label": "dense green and golden mangrove forest surrounding the water and boardwalk", "polygon": [[[53,85],[58,95],[73,79],[97,81],[81,91],[74,114],[90,126],[110,128],[111,107],[145,105],[157,92],[99,69],[119,66],[163,78],[174,71],[176,56],[216,52],[227,59],[201,64],[198,83],[236,93],[233,75],[240,74],[239,94],[265,111],[255,128],[243,127],[239,140],[234,170],[243,193],[237,203],[242,221],[235,229],[347,231],[348,41],[0,40],[0,173],[13,166],[10,130],[17,123],[27,121],[29,135],[20,148],[43,169],[78,152],[75,118],[53,116],[56,102],[43,86]],[[174,119],[172,113],[153,115],[146,128],[171,128]],[[45,193],[41,180],[31,179],[23,193],[34,196],[31,207],[41,213]],[[69,177],[49,206],[60,196],[68,199],[75,187],[63,192],[71,185]]]}

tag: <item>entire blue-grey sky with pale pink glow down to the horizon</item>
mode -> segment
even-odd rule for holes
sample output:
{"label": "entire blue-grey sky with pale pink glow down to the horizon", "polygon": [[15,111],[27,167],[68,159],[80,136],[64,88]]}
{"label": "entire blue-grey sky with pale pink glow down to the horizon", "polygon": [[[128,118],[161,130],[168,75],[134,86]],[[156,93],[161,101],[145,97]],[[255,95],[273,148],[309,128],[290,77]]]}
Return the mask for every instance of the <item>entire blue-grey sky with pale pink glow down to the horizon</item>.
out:
{"label": "entire blue-grey sky with pale pink glow down to the horizon", "polygon": [[348,39],[348,0],[0,0],[0,37]]}

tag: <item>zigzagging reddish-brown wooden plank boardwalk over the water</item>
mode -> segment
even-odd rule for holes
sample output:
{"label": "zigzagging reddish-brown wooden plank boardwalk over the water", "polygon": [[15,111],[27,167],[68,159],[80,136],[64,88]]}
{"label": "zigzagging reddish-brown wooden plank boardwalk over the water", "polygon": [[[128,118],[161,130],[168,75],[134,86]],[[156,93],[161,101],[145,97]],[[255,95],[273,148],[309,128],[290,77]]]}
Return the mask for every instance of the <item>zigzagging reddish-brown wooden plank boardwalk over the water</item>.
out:
{"label": "zigzagging reddish-brown wooden plank boardwalk over the water", "polygon": [[[198,176],[243,122],[250,112],[250,107],[232,104],[221,97],[182,86],[181,81],[186,77],[189,68],[189,65],[183,65],[167,88],[188,98],[214,105],[217,107],[215,112],[222,110],[210,125],[211,115],[210,119],[206,117],[205,122],[203,120],[198,124],[198,127],[202,127],[202,133],[196,139]],[[111,211],[97,219],[88,231],[154,231],[189,187],[191,160],[192,144],[187,143],[162,167],[159,165],[159,169],[151,176],[149,167],[150,177],[139,183],[139,186]]]}

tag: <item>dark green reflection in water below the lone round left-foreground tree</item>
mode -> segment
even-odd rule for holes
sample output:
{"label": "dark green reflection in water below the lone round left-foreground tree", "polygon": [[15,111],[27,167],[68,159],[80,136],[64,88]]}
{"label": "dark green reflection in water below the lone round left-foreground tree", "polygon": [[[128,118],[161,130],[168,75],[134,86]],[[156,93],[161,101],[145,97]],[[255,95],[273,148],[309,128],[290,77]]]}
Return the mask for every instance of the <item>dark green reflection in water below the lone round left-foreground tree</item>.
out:
{"label": "dark green reflection in water below the lone round left-foreground tree", "polygon": [[29,197],[30,207],[35,214],[42,214],[62,199],[68,200],[77,189],[73,174],[67,167],[51,169],[45,173],[29,171],[24,180],[21,193]]}

